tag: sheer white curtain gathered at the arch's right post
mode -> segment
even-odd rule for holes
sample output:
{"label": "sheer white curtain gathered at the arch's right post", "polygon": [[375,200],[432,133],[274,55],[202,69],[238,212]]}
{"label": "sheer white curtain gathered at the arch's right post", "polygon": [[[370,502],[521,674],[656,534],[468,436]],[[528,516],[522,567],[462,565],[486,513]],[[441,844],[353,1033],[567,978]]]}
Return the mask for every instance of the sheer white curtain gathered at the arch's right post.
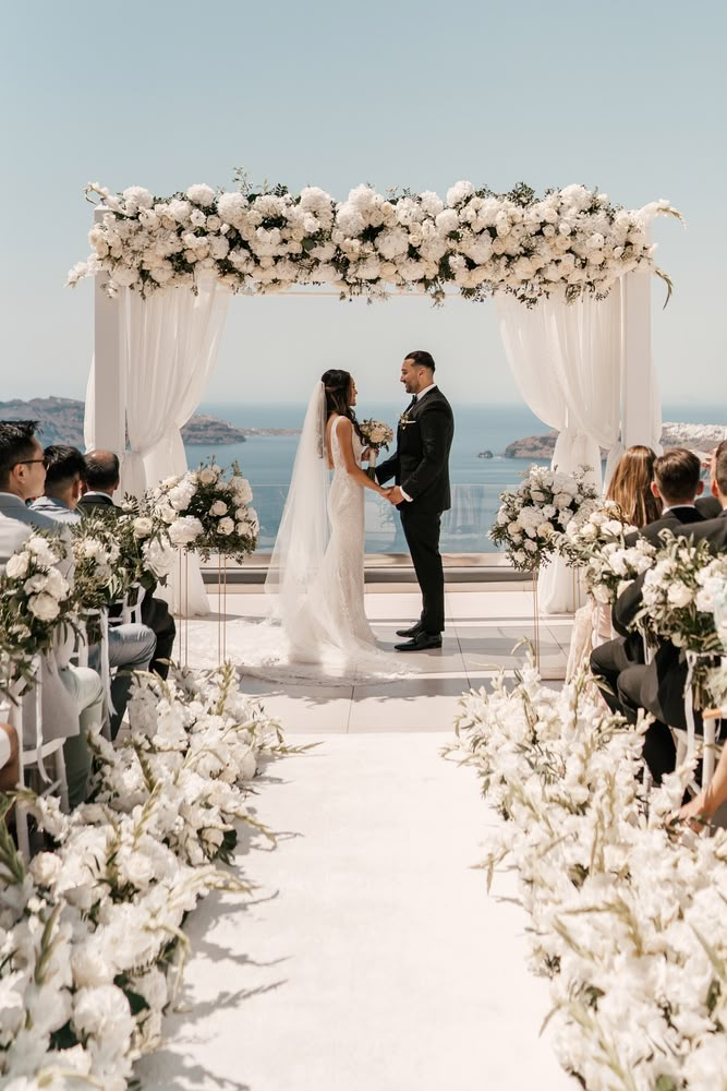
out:
{"label": "sheer white curtain gathered at the arch's right post", "polygon": [[[571,471],[591,466],[601,489],[601,451],[607,476],[621,454],[621,293],[605,300],[562,298],[523,307],[513,296],[496,297],[500,336],[523,400],[558,439],[553,466]],[[575,591],[577,595],[577,591]],[[553,562],[541,577],[541,604],[549,613],[578,604],[571,572]]]}

